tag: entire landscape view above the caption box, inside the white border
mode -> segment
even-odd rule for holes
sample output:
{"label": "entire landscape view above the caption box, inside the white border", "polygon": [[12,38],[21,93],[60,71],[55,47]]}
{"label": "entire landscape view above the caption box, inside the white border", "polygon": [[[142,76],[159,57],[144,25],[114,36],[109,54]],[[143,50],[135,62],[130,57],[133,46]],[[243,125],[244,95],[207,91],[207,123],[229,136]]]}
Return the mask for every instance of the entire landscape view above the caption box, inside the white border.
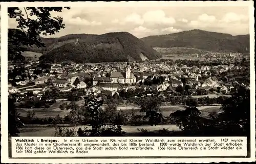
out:
{"label": "entire landscape view above the caption box, inside the white border", "polygon": [[[134,8],[121,21],[99,8],[99,22],[79,24],[90,9],[8,8],[10,136],[249,136],[250,35],[229,28],[237,9],[217,21],[203,8],[189,20]],[[208,19],[228,26],[189,27]]]}

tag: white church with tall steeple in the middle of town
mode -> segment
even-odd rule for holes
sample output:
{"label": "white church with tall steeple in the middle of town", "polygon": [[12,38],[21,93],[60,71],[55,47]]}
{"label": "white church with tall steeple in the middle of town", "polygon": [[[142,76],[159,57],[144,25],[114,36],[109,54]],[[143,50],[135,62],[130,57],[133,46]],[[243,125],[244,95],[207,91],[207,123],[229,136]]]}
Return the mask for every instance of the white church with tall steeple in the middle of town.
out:
{"label": "white church with tall steeple in the middle of town", "polygon": [[131,72],[131,66],[129,63],[126,65],[125,72],[111,72],[110,78],[112,79],[112,83],[120,83],[120,84],[134,84],[136,83],[136,77],[133,72]]}

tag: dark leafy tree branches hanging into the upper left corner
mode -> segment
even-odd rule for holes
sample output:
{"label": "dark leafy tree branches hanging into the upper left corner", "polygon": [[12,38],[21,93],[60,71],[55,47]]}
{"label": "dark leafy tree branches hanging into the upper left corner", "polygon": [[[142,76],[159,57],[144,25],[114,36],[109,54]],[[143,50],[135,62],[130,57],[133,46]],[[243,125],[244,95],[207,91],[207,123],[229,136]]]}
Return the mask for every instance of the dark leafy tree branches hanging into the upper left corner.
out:
{"label": "dark leafy tree branches hanging into the upper left corner", "polygon": [[[69,7],[65,7],[70,9]],[[17,22],[16,29],[8,30],[8,60],[24,61],[22,52],[28,46],[44,47],[40,35],[58,33],[65,28],[63,18],[51,17],[51,12],[61,12],[62,7],[17,7],[8,8],[8,16]]]}

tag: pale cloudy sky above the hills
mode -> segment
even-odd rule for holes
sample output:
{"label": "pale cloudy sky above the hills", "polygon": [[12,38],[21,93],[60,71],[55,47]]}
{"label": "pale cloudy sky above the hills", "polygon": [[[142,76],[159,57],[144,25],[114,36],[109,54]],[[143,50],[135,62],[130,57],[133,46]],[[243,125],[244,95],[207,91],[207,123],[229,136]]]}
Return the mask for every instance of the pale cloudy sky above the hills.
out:
{"label": "pale cloudy sky above the hills", "polygon": [[[249,34],[248,7],[71,7],[51,16],[61,16],[66,27],[47,37],[129,32],[142,38],[193,29],[231,35]],[[8,28],[16,25],[15,19],[9,18]]]}

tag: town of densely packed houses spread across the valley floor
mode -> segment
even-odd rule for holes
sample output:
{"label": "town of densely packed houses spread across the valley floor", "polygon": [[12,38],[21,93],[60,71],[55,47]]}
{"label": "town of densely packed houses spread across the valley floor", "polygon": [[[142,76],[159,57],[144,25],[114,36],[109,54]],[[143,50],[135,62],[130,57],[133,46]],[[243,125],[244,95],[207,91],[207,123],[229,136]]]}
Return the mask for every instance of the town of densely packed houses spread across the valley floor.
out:
{"label": "town of densely packed houses spread across the valley floor", "polygon": [[[50,108],[56,102],[79,101],[88,95],[130,104],[136,97],[148,96],[161,97],[164,102],[174,102],[177,96],[229,97],[240,86],[250,87],[246,62],[161,60],[42,66],[37,60],[28,60],[24,68],[9,63],[8,91],[20,108]],[[17,72],[20,69],[23,74]]]}

